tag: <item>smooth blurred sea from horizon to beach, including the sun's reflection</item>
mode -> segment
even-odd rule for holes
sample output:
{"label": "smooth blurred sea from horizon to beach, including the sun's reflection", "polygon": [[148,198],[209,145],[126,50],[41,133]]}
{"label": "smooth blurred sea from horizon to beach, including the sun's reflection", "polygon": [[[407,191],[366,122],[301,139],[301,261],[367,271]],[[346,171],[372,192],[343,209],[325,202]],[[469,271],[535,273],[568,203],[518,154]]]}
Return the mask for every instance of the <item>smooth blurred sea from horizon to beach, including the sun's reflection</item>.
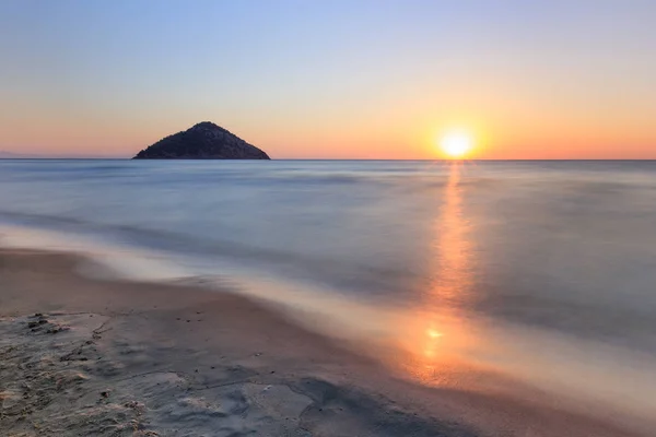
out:
{"label": "smooth blurred sea from horizon to beach, including the sun's reflection", "polygon": [[422,383],[656,415],[656,162],[8,160],[0,245],[316,314]]}

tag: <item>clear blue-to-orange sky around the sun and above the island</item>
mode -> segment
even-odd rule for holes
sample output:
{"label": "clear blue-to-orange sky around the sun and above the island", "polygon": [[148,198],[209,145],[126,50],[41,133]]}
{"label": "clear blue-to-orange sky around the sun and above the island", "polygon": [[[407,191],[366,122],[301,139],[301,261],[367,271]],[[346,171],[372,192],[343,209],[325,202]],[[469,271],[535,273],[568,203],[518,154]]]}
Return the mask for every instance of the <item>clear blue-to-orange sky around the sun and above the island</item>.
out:
{"label": "clear blue-to-orange sky around the sun and above the island", "polygon": [[652,0],[2,0],[0,151],[213,121],[274,158],[656,158]]}

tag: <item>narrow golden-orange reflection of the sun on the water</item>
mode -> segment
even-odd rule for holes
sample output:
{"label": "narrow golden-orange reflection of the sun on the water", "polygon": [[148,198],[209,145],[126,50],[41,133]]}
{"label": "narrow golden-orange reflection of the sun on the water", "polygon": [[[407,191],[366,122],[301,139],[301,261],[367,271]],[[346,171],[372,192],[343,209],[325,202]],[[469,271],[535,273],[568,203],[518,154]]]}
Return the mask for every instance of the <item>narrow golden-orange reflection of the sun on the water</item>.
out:
{"label": "narrow golden-orange reflection of the sun on the water", "polygon": [[462,212],[464,164],[452,162],[441,206],[432,224],[431,277],[418,308],[400,321],[402,363],[412,379],[429,385],[460,383],[468,370],[467,351],[477,335],[466,308],[472,299],[473,247]]}

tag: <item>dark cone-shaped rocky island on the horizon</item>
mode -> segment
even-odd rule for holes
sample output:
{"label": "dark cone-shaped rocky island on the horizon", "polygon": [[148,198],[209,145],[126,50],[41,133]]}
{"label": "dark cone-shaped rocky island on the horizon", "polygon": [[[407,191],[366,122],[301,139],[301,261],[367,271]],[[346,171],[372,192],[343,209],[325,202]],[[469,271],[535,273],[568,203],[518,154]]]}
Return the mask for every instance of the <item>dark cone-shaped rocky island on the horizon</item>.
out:
{"label": "dark cone-shaped rocky island on the horizon", "polygon": [[269,155],[226,129],[202,121],[168,135],[133,160],[270,160]]}

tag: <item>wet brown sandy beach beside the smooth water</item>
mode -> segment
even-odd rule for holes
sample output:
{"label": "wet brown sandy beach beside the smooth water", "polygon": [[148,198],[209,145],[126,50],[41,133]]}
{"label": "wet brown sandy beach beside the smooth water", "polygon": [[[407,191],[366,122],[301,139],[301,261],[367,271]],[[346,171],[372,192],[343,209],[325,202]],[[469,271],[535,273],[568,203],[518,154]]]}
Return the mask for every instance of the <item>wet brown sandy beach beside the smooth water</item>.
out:
{"label": "wet brown sandy beach beside the smooth water", "polygon": [[0,250],[0,434],[647,436],[607,414],[423,387],[265,303]]}

